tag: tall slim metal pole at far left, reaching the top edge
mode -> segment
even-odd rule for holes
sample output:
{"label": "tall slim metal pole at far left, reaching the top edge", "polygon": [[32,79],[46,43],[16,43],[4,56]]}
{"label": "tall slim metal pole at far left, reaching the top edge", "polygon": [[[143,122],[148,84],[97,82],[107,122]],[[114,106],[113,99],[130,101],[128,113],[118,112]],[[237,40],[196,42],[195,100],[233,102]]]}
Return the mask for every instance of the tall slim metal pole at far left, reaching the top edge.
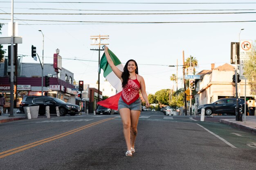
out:
{"label": "tall slim metal pole at far left, reaching the top edge", "polygon": [[[11,35],[11,73],[10,73],[10,116],[13,116],[13,43],[14,43],[14,28],[13,28],[13,0],[11,0],[11,24],[12,24],[12,35]],[[16,65],[17,67],[17,65]]]}

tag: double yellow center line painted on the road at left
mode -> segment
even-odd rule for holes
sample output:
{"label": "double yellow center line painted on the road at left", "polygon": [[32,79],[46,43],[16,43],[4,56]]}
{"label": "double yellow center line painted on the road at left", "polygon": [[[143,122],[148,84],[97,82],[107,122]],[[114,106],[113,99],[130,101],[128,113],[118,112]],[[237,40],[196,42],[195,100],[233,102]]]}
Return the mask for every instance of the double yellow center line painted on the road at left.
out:
{"label": "double yellow center line painted on the road at left", "polygon": [[[18,153],[18,152],[21,152],[23,150],[27,150],[29,148],[33,148],[35,146],[38,146],[38,145],[41,145],[41,144],[44,144],[44,143],[47,143],[47,142],[51,142],[53,140],[56,140],[56,139],[59,139],[61,137],[65,137],[67,135],[71,135],[73,133],[76,133],[76,132],[79,132],[79,131],[82,131],[88,127],[91,127],[91,126],[94,126],[96,124],[100,124],[102,122],[106,122],[108,120],[112,120],[112,119],[115,119],[115,118],[108,118],[108,119],[104,119],[104,120],[100,120],[98,122],[94,122],[94,123],[91,123],[91,124],[88,124],[88,125],[85,125],[85,126],[82,126],[80,128],[77,128],[77,129],[73,129],[71,131],[67,131],[65,133],[61,133],[59,135],[55,135],[53,137],[49,137],[49,138],[46,138],[46,139],[42,139],[42,140],[39,140],[39,141],[36,141],[36,142],[33,142],[33,143],[30,143],[30,144],[26,144],[26,145],[23,145],[23,146],[19,146],[17,148],[13,148],[13,149],[10,149],[10,150],[6,150],[4,152],[1,152],[0,153],[0,158],[3,158],[3,157],[6,157],[6,156],[9,156],[9,155],[12,155],[12,154],[15,154],[15,153]],[[4,155],[3,155],[4,154]]]}

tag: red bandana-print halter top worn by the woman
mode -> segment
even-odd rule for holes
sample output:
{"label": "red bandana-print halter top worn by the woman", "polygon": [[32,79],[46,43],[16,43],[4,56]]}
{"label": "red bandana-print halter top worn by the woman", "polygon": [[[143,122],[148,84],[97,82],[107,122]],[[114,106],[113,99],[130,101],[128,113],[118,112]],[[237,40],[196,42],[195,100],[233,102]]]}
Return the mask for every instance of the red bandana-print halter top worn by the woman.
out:
{"label": "red bandana-print halter top worn by the woman", "polygon": [[132,80],[129,78],[128,83],[124,87],[121,95],[122,99],[127,105],[132,104],[139,98],[139,89],[140,89],[140,84],[137,79],[137,75],[135,80]]}

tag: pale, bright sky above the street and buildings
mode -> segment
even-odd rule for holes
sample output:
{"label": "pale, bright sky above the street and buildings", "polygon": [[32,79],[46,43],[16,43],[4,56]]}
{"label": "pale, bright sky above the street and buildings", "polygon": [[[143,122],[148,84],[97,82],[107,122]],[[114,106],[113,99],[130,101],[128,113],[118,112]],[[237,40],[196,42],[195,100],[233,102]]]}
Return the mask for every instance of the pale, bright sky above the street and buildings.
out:
{"label": "pale, bright sky above the street and buildings", "polygon": [[[91,45],[90,36],[108,35],[109,39],[102,42],[109,44],[122,63],[137,61],[146,91],[151,94],[172,88],[172,74],[177,74],[178,88],[183,87],[182,51],[185,60],[190,55],[198,60],[195,69],[200,72],[210,70],[211,63],[215,67],[230,64],[231,42],[256,39],[254,0],[14,0],[13,6],[18,36],[22,37],[22,44],[18,44],[22,62],[39,63],[31,57],[31,45],[41,57],[43,33],[44,63],[53,63],[58,48],[62,67],[73,72],[76,81],[95,84],[99,52],[91,50],[98,46]],[[10,13],[11,0],[2,0],[0,23],[4,26],[0,37],[8,37]],[[7,49],[8,45],[3,46]],[[177,67],[168,67],[177,61],[178,71]],[[100,80],[105,80],[103,74]]]}

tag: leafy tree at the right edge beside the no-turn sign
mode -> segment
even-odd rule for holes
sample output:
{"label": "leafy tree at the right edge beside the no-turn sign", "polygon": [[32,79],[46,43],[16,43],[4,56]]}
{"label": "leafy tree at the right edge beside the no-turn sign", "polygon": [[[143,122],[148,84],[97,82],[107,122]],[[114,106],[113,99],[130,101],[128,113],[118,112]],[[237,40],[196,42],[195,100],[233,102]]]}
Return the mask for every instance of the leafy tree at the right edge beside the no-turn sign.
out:
{"label": "leafy tree at the right edge beside the no-turn sign", "polygon": [[[256,43],[256,41],[255,41]],[[252,48],[252,54],[249,56],[249,62],[245,63],[245,77],[251,87],[251,94],[256,95],[256,46]]]}

